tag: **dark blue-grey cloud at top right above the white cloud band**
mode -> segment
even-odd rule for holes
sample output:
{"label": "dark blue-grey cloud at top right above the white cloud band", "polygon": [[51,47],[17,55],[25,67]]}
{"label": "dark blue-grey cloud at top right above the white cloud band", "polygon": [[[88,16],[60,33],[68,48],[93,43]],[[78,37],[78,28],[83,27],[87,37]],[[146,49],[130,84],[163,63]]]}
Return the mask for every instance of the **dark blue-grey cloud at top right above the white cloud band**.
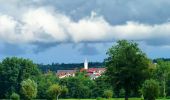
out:
{"label": "dark blue-grey cloud at top right above the white cloud band", "polygon": [[126,21],[163,23],[169,19],[169,0],[43,0],[39,5],[50,5],[65,12],[75,20],[97,12],[111,24]]}

